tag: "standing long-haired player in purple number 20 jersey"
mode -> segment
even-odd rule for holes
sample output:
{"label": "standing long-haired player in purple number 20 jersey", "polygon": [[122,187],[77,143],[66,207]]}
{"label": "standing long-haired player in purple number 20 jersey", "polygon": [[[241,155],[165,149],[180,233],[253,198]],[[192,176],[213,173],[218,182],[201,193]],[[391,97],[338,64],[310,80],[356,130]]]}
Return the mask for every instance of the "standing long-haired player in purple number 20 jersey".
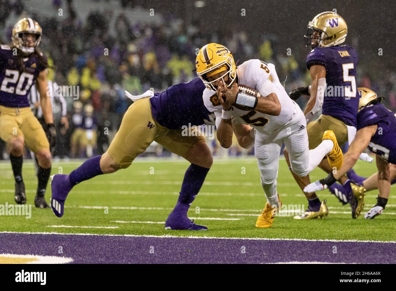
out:
{"label": "standing long-haired player in purple number 20 jersey", "polygon": [[[7,143],[15,178],[15,202],[26,203],[22,179],[24,144],[38,160],[38,186],[34,205],[48,208],[44,199],[51,173],[50,146],[55,145],[51,100],[47,88],[47,59],[38,51],[42,29],[31,18],[19,20],[12,30],[12,45],[0,46],[0,138]],[[36,83],[46,130],[34,116],[28,99]]]}

